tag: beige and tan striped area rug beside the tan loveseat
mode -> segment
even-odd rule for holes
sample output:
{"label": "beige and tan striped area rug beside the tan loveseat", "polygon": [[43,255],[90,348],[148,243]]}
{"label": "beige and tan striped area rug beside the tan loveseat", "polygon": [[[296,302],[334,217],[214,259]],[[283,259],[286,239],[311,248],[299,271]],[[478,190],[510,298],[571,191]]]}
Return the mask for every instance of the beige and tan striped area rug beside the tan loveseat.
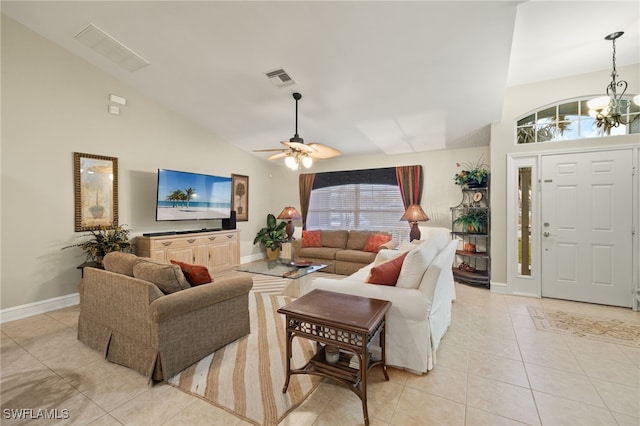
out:
{"label": "beige and tan striped area rug beside the tan loveseat", "polygon": [[[268,278],[268,277],[266,277]],[[283,281],[283,279],[280,279]],[[251,333],[169,379],[176,388],[198,396],[256,425],[276,425],[320,383],[312,375],[286,378],[286,331],[279,307],[292,299],[269,294],[275,283],[259,284],[249,293]],[[280,292],[284,288],[284,282]],[[302,367],[313,354],[312,342],[293,339],[292,366]]]}

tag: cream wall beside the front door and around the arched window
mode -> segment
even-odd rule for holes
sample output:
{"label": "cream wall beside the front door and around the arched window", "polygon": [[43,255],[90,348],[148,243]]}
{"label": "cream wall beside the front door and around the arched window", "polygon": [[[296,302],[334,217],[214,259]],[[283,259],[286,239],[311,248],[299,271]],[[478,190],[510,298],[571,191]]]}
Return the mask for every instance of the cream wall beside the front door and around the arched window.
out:
{"label": "cream wall beside the front door and around the arched window", "polygon": [[[583,96],[601,96],[611,81],[611,70],[581,74],[549,80],[535,84],[511,87],[506,91],[502,121],[491,128],[491,237],[492,237],[492,281],[507,283],[506,245],[506,173],[507,155],[522,153],[544,153],[563,150],[590,149],[612,145],[634,145],[640,135],[615,136],[609,138],[582,139],[575,141],[547,142],[515,145],[515,121],[542,106]],[[618,67],[621,79],[627,80],[627,93],[640,92],[640,65]]]}

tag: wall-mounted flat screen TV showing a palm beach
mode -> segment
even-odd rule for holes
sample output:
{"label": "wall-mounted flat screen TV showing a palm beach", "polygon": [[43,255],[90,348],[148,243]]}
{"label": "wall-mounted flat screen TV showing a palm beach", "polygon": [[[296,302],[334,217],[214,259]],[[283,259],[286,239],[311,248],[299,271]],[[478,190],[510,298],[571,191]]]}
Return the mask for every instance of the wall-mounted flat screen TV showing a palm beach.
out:
{"label": "wall-mounted flat screen TV showing a palm beach", "polygon": [[227,219],[231,178],[158,169],[156,220]]}

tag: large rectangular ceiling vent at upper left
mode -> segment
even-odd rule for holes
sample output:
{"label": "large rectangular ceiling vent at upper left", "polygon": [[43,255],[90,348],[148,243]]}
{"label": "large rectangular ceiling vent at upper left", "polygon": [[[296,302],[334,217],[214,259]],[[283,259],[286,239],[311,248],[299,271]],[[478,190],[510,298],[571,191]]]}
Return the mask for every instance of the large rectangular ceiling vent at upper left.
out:
{"label": "large rectangular ceiling vent at upper left", "polygon": [[137,71],[149,65],[149,61],[93,24],[87,25],[73,38],[127,71]]}

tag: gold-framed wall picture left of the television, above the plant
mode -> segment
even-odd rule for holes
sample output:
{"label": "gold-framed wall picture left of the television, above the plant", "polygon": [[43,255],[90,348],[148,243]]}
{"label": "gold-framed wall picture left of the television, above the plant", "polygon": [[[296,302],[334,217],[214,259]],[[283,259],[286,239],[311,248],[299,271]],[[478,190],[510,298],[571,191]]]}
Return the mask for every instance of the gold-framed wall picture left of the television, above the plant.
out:
{"label": "gold-framed wall picture left of the television, above the plant", "polygon": [[73,153],[75,230],[118,226],[118,159]]}

